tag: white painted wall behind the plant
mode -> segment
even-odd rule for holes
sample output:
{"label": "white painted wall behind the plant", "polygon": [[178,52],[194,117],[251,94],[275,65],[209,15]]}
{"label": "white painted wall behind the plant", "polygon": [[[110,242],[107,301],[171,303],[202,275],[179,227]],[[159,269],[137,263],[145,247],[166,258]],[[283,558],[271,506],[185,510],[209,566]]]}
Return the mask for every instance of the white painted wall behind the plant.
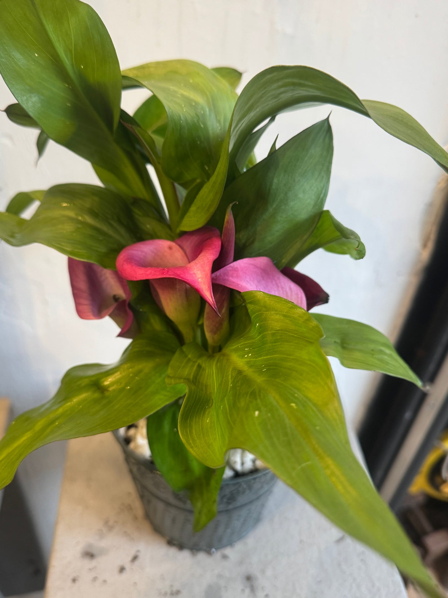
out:
{"label": "white painted wall behind the plant", "polygon": [[[278,63],[314,66],[360,97],[396,103],[442,145],[448,142],[448,4],[445,0],[92,0],[122,68],[186,57],[231,65],[246,83]],[[12,96],[0,83],[0,107]],[[140,92],[127,92],[136,106]],[[326,117],[329,108],[283,115],[260,144],[268,151]],[[302,270],[330,293],[321,311],[390,332],[419,253],[422,225],[440,170],[371,121],[333,108],[335,158],[327,206],[367,247],[363,261],[317,252]],[[90,166],[50,144],[36,166],[36,133],[0,115],[0,208],[14,193],[59,182],[95,182]],[[79,320],[66,258],[39,245],[0,244],[0,395],[14,414],[45,401],[71,365],[111,362],[125,341],[111,321]],[[342,370],[337,380],[354,420],[372,374]],[[44,447],[20,466],[45,553],[51,545],[64,447]]]}

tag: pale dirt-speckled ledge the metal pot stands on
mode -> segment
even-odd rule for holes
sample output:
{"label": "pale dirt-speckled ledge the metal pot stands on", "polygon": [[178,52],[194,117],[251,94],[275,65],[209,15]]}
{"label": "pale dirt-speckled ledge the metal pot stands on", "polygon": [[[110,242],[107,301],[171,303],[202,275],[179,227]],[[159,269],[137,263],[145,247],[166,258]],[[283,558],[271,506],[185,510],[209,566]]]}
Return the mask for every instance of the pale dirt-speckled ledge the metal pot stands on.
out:
{"label": "pale dirt-speckled ledge the metal pot stands on", "polygon": [[397,570],[277,482],[262,522],[215,554],[152,530],[112,434],[69,442],[45,598],[405,598]]}

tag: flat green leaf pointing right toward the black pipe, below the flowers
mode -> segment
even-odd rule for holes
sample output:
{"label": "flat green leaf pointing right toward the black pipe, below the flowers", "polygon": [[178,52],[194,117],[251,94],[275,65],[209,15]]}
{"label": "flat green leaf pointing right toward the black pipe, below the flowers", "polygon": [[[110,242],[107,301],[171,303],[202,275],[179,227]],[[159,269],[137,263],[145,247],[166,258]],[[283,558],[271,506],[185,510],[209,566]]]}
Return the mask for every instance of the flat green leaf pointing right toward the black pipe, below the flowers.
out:
{"label": "flat green leaf pointing right toward the black pipe, below the flowers", "polygon": [[323,313],[313,313],[312,316],[325,334],[320,341],[323,352],[339,359],[344,367],[378,371],[422,386],[391,341],[372,326]]}

